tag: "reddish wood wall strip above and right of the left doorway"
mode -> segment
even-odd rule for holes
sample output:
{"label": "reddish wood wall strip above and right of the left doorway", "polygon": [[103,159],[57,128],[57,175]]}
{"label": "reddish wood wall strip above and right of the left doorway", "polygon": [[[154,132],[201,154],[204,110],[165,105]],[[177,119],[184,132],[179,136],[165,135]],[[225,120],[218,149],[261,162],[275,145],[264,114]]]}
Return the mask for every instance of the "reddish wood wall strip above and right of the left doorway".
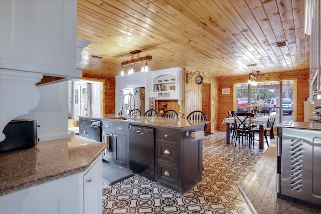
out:
{"label": "reddish wood wall strip above and right of the left doorway", "polygon": [[108,76],[108,75],[96,75],[92,73],[83,73],[82,79],[98,80],[103,82],[103,85],[104,85],[103,112],[105,114],[115,114],[115,89],[116,89],[115,77]]}

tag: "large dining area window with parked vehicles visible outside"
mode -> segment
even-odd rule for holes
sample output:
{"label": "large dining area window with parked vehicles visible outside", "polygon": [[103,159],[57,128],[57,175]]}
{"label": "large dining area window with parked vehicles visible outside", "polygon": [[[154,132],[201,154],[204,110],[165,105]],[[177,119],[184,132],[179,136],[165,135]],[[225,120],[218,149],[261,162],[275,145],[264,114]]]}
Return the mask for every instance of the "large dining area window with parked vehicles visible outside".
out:
{"label": "large dining area window with parked vehicles visible outside", "polygon": [[[280,102],[281,101],[281,102]],[[260,103],[267,112],[276,111],[276,120],[293,120],[293,80],[236,84],[236,110],[248,112],[248,105]],[[281,116],[279,112],[282,112]]]}

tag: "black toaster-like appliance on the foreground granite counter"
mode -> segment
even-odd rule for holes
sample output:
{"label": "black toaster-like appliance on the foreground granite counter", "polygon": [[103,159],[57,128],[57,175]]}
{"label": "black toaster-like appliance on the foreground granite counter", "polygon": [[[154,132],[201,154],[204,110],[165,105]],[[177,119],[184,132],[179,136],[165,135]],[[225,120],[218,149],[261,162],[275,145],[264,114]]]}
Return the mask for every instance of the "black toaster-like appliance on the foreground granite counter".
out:
{"label": "black toaster-like appliance on the foreground granite counter", "polygon": [[12,120],[3,133],[6,138],[0,142],[0,151],[31,148],[38,143],[36,120]]}

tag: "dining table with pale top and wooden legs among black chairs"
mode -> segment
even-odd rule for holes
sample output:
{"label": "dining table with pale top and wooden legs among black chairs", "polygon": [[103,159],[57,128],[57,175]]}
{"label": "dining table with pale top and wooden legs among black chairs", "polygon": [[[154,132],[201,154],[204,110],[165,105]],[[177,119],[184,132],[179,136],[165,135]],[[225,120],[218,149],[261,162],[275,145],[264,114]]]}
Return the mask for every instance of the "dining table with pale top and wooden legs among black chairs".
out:
{"label": "dining table with pale top and wooden legs among black chairs", "polygon": [[[237,118],[236,118],[237,119]],[[240,117],[241,119],[241,117]],[[263,149],[264,142],[264,129],[267,126],[269,117],[268,116],[256,116],[255,118],[251,117],[251,124],[259,126],[259,149]],[[238,120],[238,119],[237,119]],[[247,119],[249,120],[249,119]],[[230,144],[230,124],[234,123],[234,117],[227,117],[223,119],[223,124],[226,124],[226,143]],[[271,137],[271,135],[270,135]]]}

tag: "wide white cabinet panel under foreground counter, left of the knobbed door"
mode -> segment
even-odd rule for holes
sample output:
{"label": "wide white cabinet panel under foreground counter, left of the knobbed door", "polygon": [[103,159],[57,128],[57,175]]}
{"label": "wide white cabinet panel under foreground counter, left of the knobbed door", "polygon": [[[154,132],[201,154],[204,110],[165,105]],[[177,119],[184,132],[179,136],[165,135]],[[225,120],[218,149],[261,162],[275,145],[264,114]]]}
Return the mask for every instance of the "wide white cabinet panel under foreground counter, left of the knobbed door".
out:
{"label": "wide white cabinet panel under foreground counter, left of the knobbed door", "polygon": [[78,177],[76,174],[1,196],[0,213],[79,214]]}

